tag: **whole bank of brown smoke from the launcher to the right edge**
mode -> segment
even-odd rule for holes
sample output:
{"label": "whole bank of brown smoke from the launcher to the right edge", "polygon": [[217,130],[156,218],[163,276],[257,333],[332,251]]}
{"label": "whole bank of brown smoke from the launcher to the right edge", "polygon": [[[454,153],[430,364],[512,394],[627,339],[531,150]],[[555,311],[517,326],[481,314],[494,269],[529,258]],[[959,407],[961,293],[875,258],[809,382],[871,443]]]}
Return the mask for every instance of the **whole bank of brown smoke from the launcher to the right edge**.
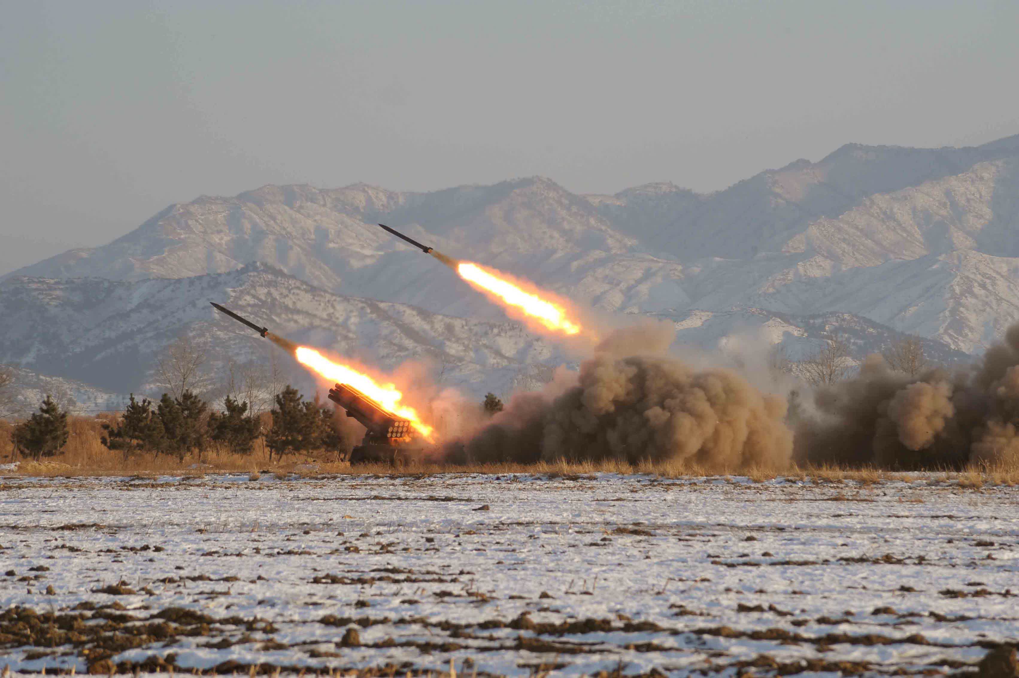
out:
{"label": "whole bank of brown smoke from the launcher to the right edge", "polygon": [[540,393],[449,446],[470,462],[685,461],[707,470],[800,463],[891,469],[1019,461],[1019,325],[978,365],[917,377],[869,356],[857,376],[813,394],[796,435],[787,401],[737,371],[667,355],[672,326],[616,330]]}

